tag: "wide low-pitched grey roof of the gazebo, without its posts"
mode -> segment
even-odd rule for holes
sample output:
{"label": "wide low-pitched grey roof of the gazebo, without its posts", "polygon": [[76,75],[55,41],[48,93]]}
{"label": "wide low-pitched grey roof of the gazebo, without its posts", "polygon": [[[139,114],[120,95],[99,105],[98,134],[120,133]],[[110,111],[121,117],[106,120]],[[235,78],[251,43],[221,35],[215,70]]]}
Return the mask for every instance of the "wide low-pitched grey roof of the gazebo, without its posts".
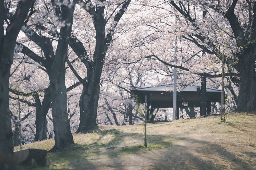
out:
{"label": "wide low-pitched grey roof of the gazebo, without its posts", "polygon": [[[183,107],[184,103],[188,107],[200,107],[201,90],[198,85],[177,85],[177,105]],[[131,90],[140,103],[145,103],[147,95],[147,103],[155,107],[172,107],[173,103],[173,84],[158,85],[151,87],[140,87]],[[220,102],[221,90],[206,87],[206,102]]]}

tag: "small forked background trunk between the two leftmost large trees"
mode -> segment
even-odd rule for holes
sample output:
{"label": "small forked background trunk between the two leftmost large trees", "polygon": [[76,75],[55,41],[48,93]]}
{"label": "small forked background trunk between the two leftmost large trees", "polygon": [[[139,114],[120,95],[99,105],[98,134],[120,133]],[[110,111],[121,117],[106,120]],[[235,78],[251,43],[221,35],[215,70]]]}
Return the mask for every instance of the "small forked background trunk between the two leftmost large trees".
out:
{"label": "small forked background trunk between the two leftmost large trees", "polygon": [[44,91],[44,99],[41,104],[39,95],[36,95],[36,136],[35,141],[47,139],[47,120],[46,115],[52,102],[51,87]]}

